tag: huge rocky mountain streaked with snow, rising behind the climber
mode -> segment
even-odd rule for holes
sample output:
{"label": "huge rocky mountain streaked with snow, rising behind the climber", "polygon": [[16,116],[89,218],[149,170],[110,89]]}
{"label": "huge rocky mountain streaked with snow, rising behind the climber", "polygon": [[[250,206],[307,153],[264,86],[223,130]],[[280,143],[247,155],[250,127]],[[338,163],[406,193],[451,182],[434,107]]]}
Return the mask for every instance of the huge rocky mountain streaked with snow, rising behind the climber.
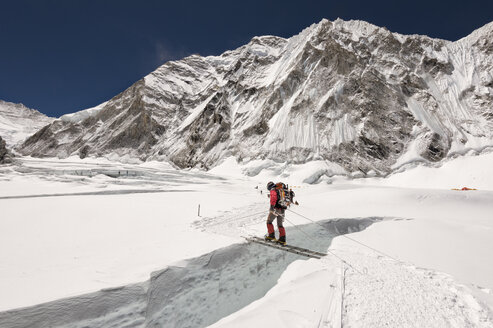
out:
{"label": "huge rocky mountain streaked with snow, rising behind the climber", "polygon": [[449,42],[322,20],[290,39],[255,37],[221,56],[168,62],[20,151],[204,168],[227,156],[324,159],[382,173],[414,148],[439,161],[454,146],[493,139],[492,30]]}

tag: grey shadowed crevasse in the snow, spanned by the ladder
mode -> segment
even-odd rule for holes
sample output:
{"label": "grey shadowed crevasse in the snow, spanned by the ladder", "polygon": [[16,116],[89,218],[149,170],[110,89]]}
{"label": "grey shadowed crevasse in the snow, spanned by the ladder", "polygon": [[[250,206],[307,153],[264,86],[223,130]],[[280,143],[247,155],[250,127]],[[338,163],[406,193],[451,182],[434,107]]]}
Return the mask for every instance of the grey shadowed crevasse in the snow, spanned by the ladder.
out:
{"label": "grey shadowed crevasse in the snow, spanned by the ladder", "polygon": [[[370,221],[345,220],[338,229],[358,229]],[[324,249],[331,229],[308,233],[318,238],[307,247]],[[352,228],[350,228],[352,226]],[[234,231],[234,230],[231,230]],[[303,242],[298,231],[293,241]],[[2,327],[203,327],[261,298],[274,286],[286,267],[298,256],[266,251],[244,241],[202,256],[175,262],[154,272],[149,281],[0,313]],[[57,315],[62,311],[64,315]]]}

